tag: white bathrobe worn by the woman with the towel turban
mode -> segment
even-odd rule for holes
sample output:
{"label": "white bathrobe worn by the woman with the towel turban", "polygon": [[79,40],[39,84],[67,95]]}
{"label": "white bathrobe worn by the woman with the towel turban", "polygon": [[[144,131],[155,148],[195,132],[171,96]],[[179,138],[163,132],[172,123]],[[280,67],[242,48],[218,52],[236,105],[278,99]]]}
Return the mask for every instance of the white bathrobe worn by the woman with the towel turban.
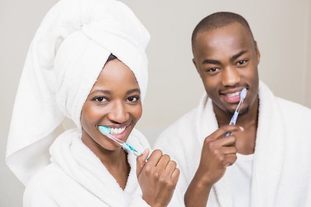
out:
{"label": "white bathrobe worn by the woman with the towel turban", "polygon": [[[133,130],[127,143],[139,150],[150,148]],[[81,141],[78,129],[66,131],[50,147],[51,164],[35,174],[26,186],[24,207],[149,207],[142,199],[136,176],[136,156],[122,190],[99,158]]]}

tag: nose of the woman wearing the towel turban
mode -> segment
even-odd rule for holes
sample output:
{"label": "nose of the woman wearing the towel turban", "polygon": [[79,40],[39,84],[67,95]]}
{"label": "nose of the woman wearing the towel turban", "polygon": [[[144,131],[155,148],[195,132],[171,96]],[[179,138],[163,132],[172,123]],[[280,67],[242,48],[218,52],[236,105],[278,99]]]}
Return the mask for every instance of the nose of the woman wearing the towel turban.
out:
{"label": "nose of the woman wearing the towel turban", "polygon": [[108,119],[116,123],[124,123],[129,119],[129,113],[123,103],[114,103],[108,113]]}

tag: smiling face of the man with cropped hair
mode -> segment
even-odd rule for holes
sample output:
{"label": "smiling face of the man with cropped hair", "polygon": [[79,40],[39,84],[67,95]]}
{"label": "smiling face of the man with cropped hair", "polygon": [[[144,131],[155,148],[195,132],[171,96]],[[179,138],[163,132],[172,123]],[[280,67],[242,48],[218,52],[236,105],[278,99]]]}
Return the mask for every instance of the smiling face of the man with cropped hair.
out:
{"label": "smiling face of the man with cropped hair", "polygon": [[258,92],[260,54],[252,37],[239,23],[198,33],[193,63],[202,78],[214,110],[233,114],[239,92],[247,89],[240,113],[254,103]]}

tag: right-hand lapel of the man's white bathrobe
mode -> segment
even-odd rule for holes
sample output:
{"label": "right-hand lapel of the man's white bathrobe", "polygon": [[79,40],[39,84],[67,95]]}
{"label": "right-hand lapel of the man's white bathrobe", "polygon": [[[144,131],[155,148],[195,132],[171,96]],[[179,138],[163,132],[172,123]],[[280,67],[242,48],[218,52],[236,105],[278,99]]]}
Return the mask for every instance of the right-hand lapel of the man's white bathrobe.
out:
{"label": "right-hand lapel of the man's white bathrobe", "polygon": [[284,117],[273,93],[259,87],[258,129],[252,176],[252,207],[274,207],[284,157]]}

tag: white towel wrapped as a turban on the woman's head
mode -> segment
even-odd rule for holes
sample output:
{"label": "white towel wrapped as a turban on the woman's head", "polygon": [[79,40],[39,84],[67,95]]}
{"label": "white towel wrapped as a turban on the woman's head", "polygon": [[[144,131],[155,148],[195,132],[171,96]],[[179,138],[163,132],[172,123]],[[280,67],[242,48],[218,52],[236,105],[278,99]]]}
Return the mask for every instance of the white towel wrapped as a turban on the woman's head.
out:
{"label": "white towel wrapped as a turban on the woman's head", "polygon": [[82,106],[110,54],[134,73],[144,99],[150,35],[117,0],[60,0],[31,42],[14,103],[6,163],[23,183],[50,161],[65,116],[81,129]]}

